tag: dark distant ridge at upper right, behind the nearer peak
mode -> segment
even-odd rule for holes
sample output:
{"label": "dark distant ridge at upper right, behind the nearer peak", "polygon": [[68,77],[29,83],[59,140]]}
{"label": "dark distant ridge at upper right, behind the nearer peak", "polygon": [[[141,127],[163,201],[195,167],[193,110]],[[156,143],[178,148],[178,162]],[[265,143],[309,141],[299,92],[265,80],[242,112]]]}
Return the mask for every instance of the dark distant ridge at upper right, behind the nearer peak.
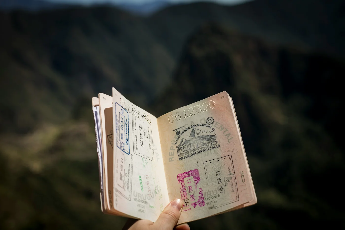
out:
{"label": "dark distant ridge at upper right, behind the nearer peak", "polygon": [[271,44],[344,58],[344,10],[342,0],[255,0],[236,6],[199,2],[171,6],[148,21],[174,57],[178,57],[184,40],[196,27],[217,21]]}

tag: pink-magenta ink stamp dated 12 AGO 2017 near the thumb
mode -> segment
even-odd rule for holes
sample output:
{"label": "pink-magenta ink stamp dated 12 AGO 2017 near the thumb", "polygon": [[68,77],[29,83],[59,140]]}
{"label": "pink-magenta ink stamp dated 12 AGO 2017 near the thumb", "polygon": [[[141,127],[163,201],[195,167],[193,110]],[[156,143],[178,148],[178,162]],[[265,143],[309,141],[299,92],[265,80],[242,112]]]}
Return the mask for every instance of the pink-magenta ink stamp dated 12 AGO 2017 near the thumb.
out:
{"label": "pink-magenta ink stamp dated 12 AGO 2017 near the thumb", "polygon": [[[196,206],[202,207],[205,205],[203,189],[198,188],[197,186],[200,182],[200,174],[198,169],[178,174],[177,180],[178,183],[181,184],[180,194],[181,200],[184,201],[184,207],[189,208],[189,204],[194,208]],[[190,208],[184,211],[187,210],[190,210]]]}

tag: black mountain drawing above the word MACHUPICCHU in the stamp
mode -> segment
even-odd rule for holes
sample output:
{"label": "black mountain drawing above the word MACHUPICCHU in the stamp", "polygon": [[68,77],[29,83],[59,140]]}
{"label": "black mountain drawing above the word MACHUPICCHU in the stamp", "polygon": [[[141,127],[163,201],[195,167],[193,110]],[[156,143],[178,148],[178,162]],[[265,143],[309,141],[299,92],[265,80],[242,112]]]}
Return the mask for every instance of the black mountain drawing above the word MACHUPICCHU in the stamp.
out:
{"label": "black mountain drawing above the word MACHUPICCHU in the stamp", "polygon": [[216,134],[213,131],[198,130],[193,128],[189,137],[182,138],[177,146],[177,155],[179,157],[199,149],[209,148],[217,144]]}

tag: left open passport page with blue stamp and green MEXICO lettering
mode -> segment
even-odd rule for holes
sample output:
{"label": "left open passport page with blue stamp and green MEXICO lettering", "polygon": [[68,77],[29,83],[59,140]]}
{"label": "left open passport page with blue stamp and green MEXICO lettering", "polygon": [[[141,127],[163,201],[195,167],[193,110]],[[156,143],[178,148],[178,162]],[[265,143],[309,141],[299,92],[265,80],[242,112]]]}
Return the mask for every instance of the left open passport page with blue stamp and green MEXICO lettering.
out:
{"label": "left open passport page with blue stamp and green MEXICO lettering", "polygon": [[114,208],[157,220],[169,203],[157,118],[112,88]]}

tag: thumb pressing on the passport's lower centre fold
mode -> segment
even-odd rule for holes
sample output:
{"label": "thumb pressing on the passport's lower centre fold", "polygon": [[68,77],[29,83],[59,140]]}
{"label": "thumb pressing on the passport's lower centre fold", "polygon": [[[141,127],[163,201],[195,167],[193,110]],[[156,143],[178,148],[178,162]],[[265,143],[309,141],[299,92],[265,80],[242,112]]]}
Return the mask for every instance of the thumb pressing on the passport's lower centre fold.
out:
{"label": "thumb pressing on the passport's lower centre fold", "polygon": [[156,229],[172,230],[178,222],[183,203],[180,199],[172,200],[153,224]]}

